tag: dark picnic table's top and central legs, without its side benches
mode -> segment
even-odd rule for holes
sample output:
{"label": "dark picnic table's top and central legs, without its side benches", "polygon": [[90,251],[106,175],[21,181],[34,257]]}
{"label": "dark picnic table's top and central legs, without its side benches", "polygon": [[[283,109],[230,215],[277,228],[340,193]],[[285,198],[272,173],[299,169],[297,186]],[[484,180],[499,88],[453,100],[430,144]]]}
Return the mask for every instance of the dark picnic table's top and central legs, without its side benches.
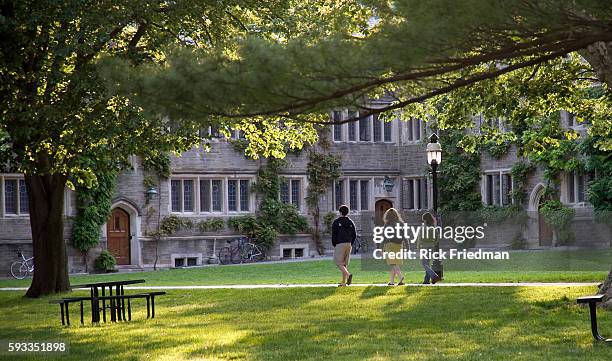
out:
{"label": "dark picnic table's top and central legs, without its side benches", "polygon": [[[123,286],[144,283],[145,280],[123,280],[123,281],[108,281],[108,282],[93,282],[80,285],[71,285],[70,288],[89,288],[91,296],[91,315],[92,322],[100,322],[100,311],[102,311],[102,319],[106,322],[106,309],[110,309],[111,321],[125,321],[125,298],[113,298],[114,296],[124,296]],[[106,294],[108,288],[108,295]],[[98,290],[100,289],[100,290]],[[107,297],[109,296],[109,297]],[[100,308],[100,299],[102,300],[102,308]],[[106,306],[108,300],[109,305]]]}

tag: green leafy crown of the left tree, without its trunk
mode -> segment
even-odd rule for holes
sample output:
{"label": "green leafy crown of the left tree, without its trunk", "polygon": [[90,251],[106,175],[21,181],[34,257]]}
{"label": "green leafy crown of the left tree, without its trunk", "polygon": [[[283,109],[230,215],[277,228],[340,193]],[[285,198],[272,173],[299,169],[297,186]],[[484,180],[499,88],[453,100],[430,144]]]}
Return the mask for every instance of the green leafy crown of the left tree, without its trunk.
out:
{"label": "green leafy crown of the left tree, without its trunk", "polygon": [[[316,133],[301,120],[235,121],[194,112],[194,104],[206,109],[215,107],[215,101],[235,102],[240,95],[220,88],[209,88],[202,96],[185,91],[203,84],[199,82],[207,81],[205,77],[173,76],[163,83],[136,84],[141,70],[131,70],[136,64],[147,69],[147,65],[168,62],[172,47],[232,54],[246,34],[278,41],[279,36],[289,39],[311,28],[320,31],[313,36],[323,36],[347,25],[350,17],[342,14],[359,7],[350,1],[329,4],[330,18],[313,22],[313,14],[300,9],[317,4],[285,0],[10,2],[6,11],[3,8],[0,24],[0,159],[9,157],[19,172],[61,173],[74,184],[92,186],[96,174],[126,165],[130,155],[142,155],[148,162],[162,153],[191,148],[201,141],[198,130],[211,125],[244,130],[249,140],[246,153],[254,158],[284,157],[286,149],[312,144]],[[224,56],[216,59],[226,60]],[[97,66],[98,62],[108,66]],[[213,70],[207,70],[213,78],[226,79]],[[251,74],[266,81],[264,75]],[[104,83],[103,78],[108,81]],[[178,109],[160,112],[147,107],[145,112],[135,98],[112,92],[120,82],[133,83],[129,95],[151,86],[160,94],[169,91],[177,98],[164,97],[159,103],[175,101]],[[250,84],[240,86],[248,89]],[[40,153],[48,155],[48,164],[36,161]],[[168,174],[167,162],[151,163],[158,172]]]}

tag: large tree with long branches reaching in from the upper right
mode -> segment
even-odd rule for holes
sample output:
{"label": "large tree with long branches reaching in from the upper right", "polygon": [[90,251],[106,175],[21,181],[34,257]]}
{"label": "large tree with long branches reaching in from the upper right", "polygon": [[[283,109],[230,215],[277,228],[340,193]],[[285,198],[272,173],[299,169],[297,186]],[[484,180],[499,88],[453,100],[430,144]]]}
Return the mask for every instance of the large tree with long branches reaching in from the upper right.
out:
{"label": "large tree with long branches reaching in from the upper right", "polygon": [[[468,127],[472,124],[467,115],[474,110],[504,116],[514,112],[510,118],[525,125],[525,119],[537,118],[530,115],[564,108],[591,120],[589,132],[596,137],[598,151],[612,150],[612,3],[359,3],[375,16],[367,29],[349,36],[316,42],[301,37],[282,41],[246,37],[231,54],[178,49],[169,54],[163,68],[131,69],[129,82],[124,74],[107,74],[108,82],[154,114],[183,118],[274,116],[330,124],[322,115],[326,110],[353,106],[361,110],[361,117],[399,109],[408,116],[437,112],[440,126]],[[193,78],[197,83],[181,87]],[[507,83],[497,79],[515,83],[507,89]],[[173,91],[157,91],[162,84],[172,84]],[[584,96],[592,84],[603,90],[596,99]],[[471,99],[465,89],[476,86],[481,94],[490,91],[485,95],[488,100],[498,97],[498,105],[483,109],[486,101],[466,104]],[[368,98],[381,96],[388,105],[368,105]],[[537,97],[537,102],[529,103]],[[453,106],[465,116],[445,117],[452,113],[439,112],[440,107]],[[541,124],[528,125],[538,129]],[[491,137],[476,141],[488,142]],[[546,141],[534,138],[529,146],[554,147],[554,142]]]}

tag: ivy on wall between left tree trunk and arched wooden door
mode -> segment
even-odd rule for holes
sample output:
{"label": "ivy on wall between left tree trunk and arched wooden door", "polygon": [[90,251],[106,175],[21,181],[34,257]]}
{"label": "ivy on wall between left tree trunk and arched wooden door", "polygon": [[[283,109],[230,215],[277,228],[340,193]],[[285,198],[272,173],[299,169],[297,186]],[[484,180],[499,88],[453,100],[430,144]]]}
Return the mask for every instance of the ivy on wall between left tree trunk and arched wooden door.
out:
{"label": "ivy on wall between left tree trunk and arched wooden door", "polygon": [[87,271],[87,257],[100,240],[100,229],[108,220],[117,183],[117,172],[101,174],[95,187],[76,189],[77,215],[72,228],[72,244],[81,251]]}

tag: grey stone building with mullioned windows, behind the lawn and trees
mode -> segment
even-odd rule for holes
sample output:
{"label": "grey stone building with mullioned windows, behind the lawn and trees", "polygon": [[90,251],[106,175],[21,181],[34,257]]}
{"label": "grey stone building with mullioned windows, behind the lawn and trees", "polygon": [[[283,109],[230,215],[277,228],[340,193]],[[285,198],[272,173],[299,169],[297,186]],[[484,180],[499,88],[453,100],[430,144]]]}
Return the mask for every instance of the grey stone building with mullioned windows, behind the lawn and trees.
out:
{"label": "grey stone building with mullioned windows, behind the lawn and trees", "polygon": [[[353,117],[348,110],[331,112],[333,119]],[[570,114],[562,112],[561,121],[567,127],[584,131]],[[180,267],[215,262],[226,241],[237,235],[225,227],[222,231],[201,232],[198,227],[183,229],[159,243],[150,237],[159,219],[168,215],[192,220],[251,214],[257,210],[258,199],[251,192],[258,169],[265,160],[247,159],[234,145],[210,130],[214,138],[210,151],[194,147],[180,157],[172,157],[172,176],[160,179],[157,196],[151,199],[143,184],[146,175],[138,158],[132,159],[133,169],[119,175],[113,198],[112,214],[102,227],[100,244],[90,252],[90,261],[103,249],[115,255],[121,267],[145,268],[154,263],[160,267]],[[377,117],[333,126],[329,130],[329,152],[342,158],[342,176],[321,196],[321,214],[333,212],[340,204],[348,204],[357,228],[367,238],[372,224],[390,208],[401,209],[407,221],[418,222],[416,215],[432,207],[432,182],[428,174],[425,146],[431,133],[425,122],[418,119],[384,123]],[[240,137],[240,134],[234,134]],[[442,144],[444,146],[444,144]],[[293,203],[304,216],[309,216],[304,197],[308,186],[306,152],[289,154],[288,165],[282,172],[286,178],[280,197]],[[444,162],[444,159],[442,160]],[[481,155],[480,172],[482,201],[487,205],[508,205],[513,187],[510,169],[517,162],[511,148],[500,159]],[[154,180],[156,180],[154,178]],[[593,220],[593,209],[586,200],[587,175],[566,174],[561,184],[561,200],[576,209],[572,227],[577,235],[574,246],[610,247],[612,238],[605,225]],[[527,248],[554,246],[550,227],[538,216],[544,190],[542,171],[536,169],[526,181],[528,220],[524,226],[511,222],[495,225],[491,237],[482,247],[508,248],[517,237]],[[0,274],[8,273],[17,250],[31,254],[27,194],[23,177],[0,173]],[[66,231],[69,270],[85,269],[83,257],[70,246],[71,217],[75,215],[75,195],[66,190]],[[415,217],[410,215],[414,214]],[[324,227],[323,227],[324,228]],[[329,235],[324,235],[329,244]],[[477,245],[478,246],[478,245]],[[310,257],[317,254],[310,234],[280,235],[269,251],[272,259]]]}

